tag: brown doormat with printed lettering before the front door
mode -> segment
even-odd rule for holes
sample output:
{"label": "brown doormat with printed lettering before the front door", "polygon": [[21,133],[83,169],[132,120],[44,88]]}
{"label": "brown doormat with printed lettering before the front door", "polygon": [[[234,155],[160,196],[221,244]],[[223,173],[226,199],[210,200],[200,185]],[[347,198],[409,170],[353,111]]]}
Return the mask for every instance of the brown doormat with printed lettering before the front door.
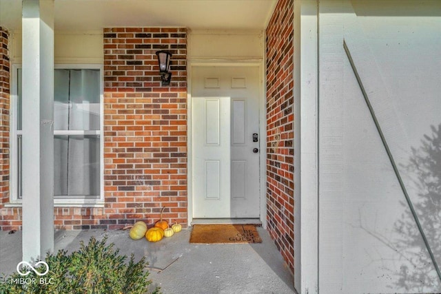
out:
{"label": "brown doormat with printed lettering before the front door", "polygon": [[262,239],[253,224],[194,224],[190,243],[247,244]]}

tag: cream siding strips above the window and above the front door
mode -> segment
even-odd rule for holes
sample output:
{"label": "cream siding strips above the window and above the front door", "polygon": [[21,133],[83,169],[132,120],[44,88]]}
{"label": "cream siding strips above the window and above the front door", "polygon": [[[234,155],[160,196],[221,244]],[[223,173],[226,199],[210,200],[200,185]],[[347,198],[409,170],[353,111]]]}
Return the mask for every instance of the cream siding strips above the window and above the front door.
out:
{"label": "cream siding strips above the window and above the front door", "polygon": [[[196,30],[188,34],[188,59],[263,60],[263,32]],[[21,63],[21,32],[13,32],[11,61]],[[103,63],[103,32],[55,32],[55,63]]]}

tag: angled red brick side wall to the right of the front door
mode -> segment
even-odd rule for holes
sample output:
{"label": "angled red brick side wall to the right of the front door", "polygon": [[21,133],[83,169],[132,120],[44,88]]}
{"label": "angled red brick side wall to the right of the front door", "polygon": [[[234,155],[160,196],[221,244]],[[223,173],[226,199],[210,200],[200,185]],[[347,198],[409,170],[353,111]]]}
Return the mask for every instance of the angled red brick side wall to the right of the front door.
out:
{"label": "angled red brick side wall to the right of the front door", "polygon": [[279,0],[267,26],[267,224],[294,272],[294,7]]}

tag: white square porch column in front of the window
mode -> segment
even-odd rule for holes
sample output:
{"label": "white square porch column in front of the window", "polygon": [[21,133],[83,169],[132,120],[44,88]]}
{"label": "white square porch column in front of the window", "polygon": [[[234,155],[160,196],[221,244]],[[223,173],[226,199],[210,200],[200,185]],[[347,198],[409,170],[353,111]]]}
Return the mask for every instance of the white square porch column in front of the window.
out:
{"label": "white square porch column in front of the window", "polygon": [[54,1],[23,0],[23,260],[54,249]]}

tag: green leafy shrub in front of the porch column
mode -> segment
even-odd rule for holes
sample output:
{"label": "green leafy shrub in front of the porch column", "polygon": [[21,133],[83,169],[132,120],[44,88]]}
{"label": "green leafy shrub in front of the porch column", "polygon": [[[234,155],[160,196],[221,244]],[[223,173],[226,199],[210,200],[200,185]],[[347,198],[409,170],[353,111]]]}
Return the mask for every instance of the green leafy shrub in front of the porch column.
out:
{"label": "green leafy shrub in front of the porch column", "polygon": [[[149,272],[145,270],[145,257],[134,262],[132,254],[126,263],[127,256],[119,255],[119,249],[115,250],[113,243],[106,245],[106,241],[107,236],[101,241],[92,237],[88,245],[81,241],[79,251],[71,255],[63,250],[56,255],[48,254],[45,262],[50,270],[43,277],[34,271],[24,277],[17,272],[0,277],[0,294],[147,293],[152,281],[147,279]],[[36,269],[41,273],[46,268],[39,265]],[[153,291],[153,294],[157,293],[159,288]]]}

